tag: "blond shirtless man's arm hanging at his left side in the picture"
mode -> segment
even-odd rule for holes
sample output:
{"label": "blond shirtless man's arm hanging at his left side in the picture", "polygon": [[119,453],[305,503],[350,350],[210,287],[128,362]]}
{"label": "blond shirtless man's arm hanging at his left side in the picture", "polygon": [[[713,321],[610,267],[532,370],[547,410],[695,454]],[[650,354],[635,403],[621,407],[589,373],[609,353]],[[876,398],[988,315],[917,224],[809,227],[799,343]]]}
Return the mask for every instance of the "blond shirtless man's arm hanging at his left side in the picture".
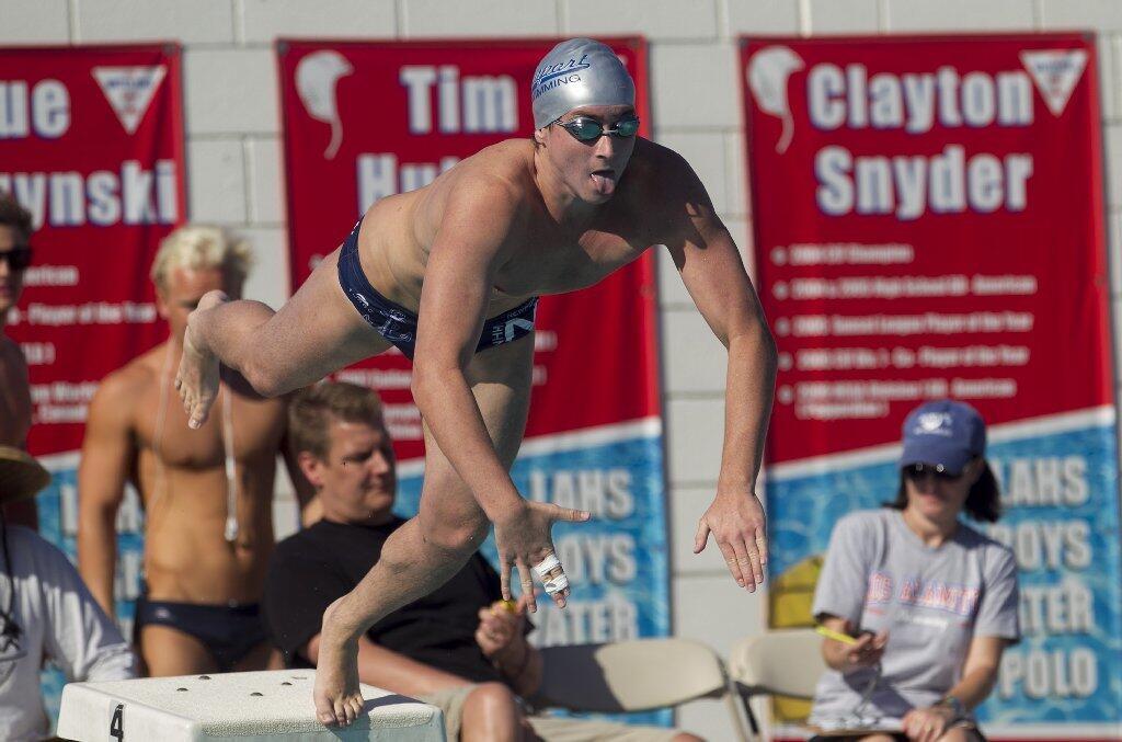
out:
{"label": "blond shirtless man's arm hanging at his left side in the picture", "polygon": [[113,576],[117,571],[117,511],[135,464],[131,391],[110,376],[90,403],[77,469],[77,565],[94,599],[116,617]]}

